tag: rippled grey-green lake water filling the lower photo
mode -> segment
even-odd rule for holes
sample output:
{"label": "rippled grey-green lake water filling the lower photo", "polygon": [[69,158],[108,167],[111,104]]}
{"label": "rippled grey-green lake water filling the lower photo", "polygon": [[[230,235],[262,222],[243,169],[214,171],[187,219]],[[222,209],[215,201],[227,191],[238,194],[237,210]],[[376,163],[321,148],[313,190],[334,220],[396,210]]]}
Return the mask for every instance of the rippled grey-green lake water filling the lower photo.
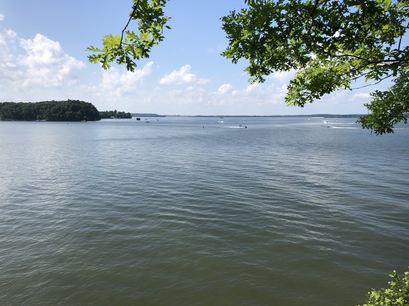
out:
{"label": "rippled grey-green lake water filling the lower photo", "polygon": [[407,126],[145,121],[0,122],[1,305],[355,305],[408,270]]}

